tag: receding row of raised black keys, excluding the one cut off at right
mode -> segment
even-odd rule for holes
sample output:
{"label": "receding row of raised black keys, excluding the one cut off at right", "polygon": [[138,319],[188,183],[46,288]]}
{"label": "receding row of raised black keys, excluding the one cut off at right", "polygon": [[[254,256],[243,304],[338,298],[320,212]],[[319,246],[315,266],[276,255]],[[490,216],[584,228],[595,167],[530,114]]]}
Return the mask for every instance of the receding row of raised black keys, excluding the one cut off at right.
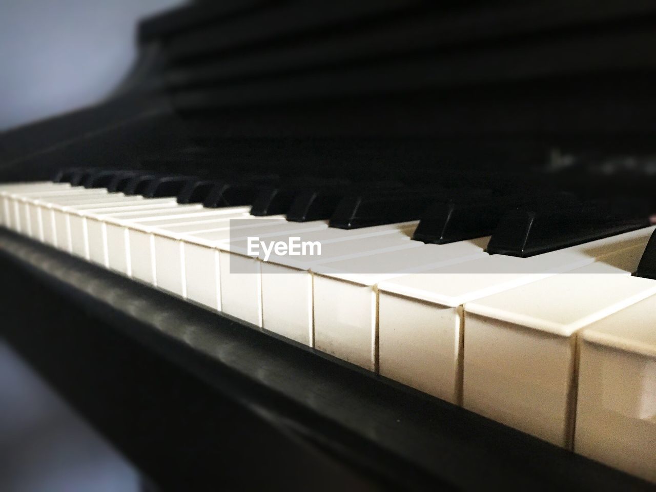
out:
{"label": "receding row of raised black keys, excluding the one cut off at right", "polygon": [[[54,178],[85,188],[144,197],[177,197],[209,208],[251,205],[251,215],[329,219],[354,229],[420,220],[413,239],[443,244],[492,236],[487,252],[533,256],[649,226],[649,210],[630,200],[581,201],[562,192],[353,184],[313,178],[249,175],[226,180],[144,171],[64,169]],[[656,244],[654,245],[656,247]]]}

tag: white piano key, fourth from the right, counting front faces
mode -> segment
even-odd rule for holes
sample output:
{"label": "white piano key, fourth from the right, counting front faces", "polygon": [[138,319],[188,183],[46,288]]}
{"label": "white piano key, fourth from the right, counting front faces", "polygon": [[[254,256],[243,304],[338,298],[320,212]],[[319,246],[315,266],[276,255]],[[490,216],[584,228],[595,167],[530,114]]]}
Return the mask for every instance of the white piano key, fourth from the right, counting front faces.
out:
{"label": "white piano key, fourth from the right, counting front faces", "polygon": [[420,247],[313,266],[315,348],[377,371],[377,284],[410,272],[483,258],[488,239],[449,245],[412,241]]}

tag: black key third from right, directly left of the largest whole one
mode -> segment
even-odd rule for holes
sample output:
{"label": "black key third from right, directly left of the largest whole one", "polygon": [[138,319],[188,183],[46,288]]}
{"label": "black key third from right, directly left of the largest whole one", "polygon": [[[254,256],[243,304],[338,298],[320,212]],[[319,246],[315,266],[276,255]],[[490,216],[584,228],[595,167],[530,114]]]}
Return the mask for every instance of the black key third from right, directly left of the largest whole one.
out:
{"label": "black key third from right, directly left of the largest whole one", "polygon": [[499,220],[516,207],[540,203],[569,207],[576,203],[573,195],[497,196],[470,194],[451,201],[434,203],[415,230],[413,239],[431,244],[446,244],[491,235]]}

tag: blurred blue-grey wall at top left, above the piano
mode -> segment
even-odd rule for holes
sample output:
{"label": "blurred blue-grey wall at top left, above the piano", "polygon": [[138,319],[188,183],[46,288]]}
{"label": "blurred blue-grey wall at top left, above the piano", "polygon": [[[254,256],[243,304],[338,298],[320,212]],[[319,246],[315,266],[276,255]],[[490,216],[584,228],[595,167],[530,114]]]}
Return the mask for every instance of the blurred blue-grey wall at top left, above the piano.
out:
{"label": "blurred blue-grey wall at top left, above the piano", "polygon": [[0,0],[0,131],[106,96],[134,60],[136,19],[181,0]]}

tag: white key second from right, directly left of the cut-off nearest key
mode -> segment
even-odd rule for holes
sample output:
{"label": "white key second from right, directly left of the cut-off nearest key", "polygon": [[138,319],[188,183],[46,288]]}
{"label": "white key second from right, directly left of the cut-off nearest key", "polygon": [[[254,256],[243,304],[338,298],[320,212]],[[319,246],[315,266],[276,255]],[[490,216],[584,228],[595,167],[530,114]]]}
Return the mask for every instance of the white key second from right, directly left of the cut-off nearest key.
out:
{"label": "white key second from right, directly left of the cut-off nearest key", "polygon": [[[634,270],[642,248],[630,252]],[[656,294],[656,281],[604,262],[464,305],[463,406],[569,448],[577,333]]]}

